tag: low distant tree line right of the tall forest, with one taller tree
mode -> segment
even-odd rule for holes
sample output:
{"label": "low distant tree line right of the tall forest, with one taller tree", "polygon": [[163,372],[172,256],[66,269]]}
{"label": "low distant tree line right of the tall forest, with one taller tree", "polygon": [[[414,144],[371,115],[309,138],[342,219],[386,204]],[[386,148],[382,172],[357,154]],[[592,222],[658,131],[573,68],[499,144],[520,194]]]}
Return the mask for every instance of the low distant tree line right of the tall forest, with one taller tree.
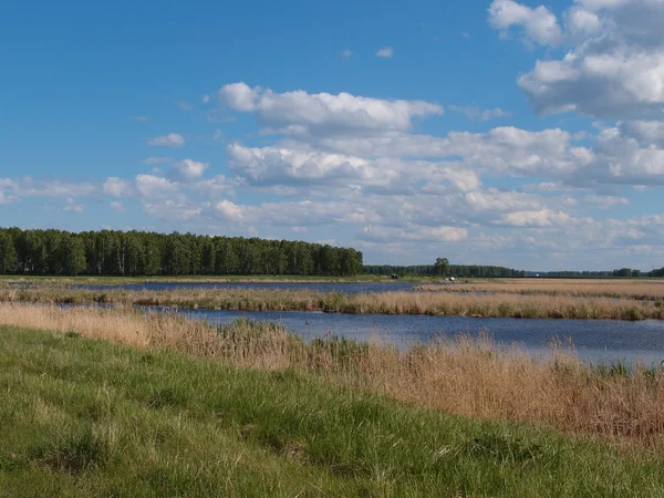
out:
{"label": "low distant tree line right of the tall forest, with one taller tree", "polygon": [[[439,258],[444,260],[445,258]],[[418,264],[398,267],[391,264],[364,266],[363,272],[367,274],[398,274],[406,276],[450,276],[457,278],[517,278],[526,277],[527,272],[504,267],[490,267],[481,264],[449,264],[449,262],[437,262],[437,264]]]}

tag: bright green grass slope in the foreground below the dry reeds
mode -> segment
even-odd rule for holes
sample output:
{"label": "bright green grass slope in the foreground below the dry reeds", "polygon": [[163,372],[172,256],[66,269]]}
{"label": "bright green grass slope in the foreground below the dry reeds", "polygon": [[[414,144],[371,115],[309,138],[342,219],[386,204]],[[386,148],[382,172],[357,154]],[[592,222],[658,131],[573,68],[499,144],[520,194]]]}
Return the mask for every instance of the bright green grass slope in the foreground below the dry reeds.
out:
{"label": "bright green grass slope in the foreground below the dry reeds", "polygon": [[0,328],[0,496],[662,496],[662,458],[293,371]]}

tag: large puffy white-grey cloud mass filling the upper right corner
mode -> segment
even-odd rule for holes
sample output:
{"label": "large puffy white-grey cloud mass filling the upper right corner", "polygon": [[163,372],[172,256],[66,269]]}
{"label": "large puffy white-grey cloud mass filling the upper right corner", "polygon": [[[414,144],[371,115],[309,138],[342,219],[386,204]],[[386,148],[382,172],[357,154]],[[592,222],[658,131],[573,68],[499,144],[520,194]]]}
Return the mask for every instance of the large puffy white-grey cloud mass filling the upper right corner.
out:
{"label": "large puffy white-grey cloud mass filling the upper right corner", "polygon": [[[495,0],[489,22],[499,30],[512,24],[528,32],[530,9],[512,0]],[[528,15],[527,15],[528,13]],[[662,120],[664,112],[664,2],[658,0],[579,0],[563,13],[562,33],[570,50],[560,59],[537,61],[519,86],[539,113],[575,111],[608,120]],[[552,33],[559,32],[553,29]],[[560,43],[560,33],[533,37]]]}

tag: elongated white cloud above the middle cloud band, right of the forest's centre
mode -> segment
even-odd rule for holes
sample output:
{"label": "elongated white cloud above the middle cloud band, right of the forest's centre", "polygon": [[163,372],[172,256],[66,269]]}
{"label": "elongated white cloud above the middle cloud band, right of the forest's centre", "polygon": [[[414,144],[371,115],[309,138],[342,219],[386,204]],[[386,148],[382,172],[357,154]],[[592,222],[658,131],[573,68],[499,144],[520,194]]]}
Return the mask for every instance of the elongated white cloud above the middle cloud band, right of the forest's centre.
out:
{"label": "elongated white cloud above the middle cloud band, right of the forest's centre", "polygon": [[266,125],[291,133],[405,132],[414,117],[443,114],[440,105],[425,101],[310,94],[302,90],[274,93],[245,83],[224,86],[219,96],[229,107],[256,113]]}

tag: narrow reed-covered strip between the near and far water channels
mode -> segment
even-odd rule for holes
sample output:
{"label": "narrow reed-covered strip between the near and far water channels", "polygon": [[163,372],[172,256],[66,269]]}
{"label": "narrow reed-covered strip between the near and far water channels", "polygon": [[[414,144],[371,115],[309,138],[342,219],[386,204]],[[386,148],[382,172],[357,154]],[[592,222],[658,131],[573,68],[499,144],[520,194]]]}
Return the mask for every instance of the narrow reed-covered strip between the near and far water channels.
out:
{"label": "narrow reed-covered strip between the near and far water channels", "polygon": [[342,313],[432,314],[522,319],[664,319],[664,305],[634,300],[575,299],[499,293],[382,292],[344,294],[302,290],[177,289],[127,291],[37,287],[0,288],[0,302],[118,303],[236,311],[325,311]]}

